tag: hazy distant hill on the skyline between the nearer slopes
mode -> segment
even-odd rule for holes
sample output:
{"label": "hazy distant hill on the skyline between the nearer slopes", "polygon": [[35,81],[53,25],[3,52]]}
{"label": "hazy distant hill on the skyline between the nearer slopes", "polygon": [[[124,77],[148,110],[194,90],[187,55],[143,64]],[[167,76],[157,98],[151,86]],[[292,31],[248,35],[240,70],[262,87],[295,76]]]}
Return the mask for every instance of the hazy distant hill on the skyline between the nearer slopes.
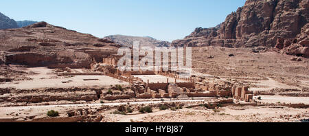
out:
{"label": "hazy distant hill on the skyline between the nearer slopes", "polygon": [[119,43],[122,46],[132,47],[134,41],[139,41],[139,45],[148,47],[169,47],[170,43],[167,41],[157,41],[157,39],[145,36],[124,36],[124,35],[111,35],[106,36],[112,41]]}

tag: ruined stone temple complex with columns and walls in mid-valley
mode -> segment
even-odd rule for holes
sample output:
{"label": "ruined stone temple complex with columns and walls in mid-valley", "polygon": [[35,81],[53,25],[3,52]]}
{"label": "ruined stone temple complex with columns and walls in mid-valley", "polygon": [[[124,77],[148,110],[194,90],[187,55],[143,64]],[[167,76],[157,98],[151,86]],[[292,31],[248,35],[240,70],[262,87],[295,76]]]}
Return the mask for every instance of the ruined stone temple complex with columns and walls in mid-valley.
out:
{"label": "ruined stone temple complex with columns and walls in mid-valley", "polygon": [[[253,102],[253,92],[248,91],[249,87],[222,87],[218,84],[207,83],[203,84],[196,80],[196,77],[181,78],[177,71],[119,71],[117,62],[121,56],[111,55],[103,58],[104,67],[108,67],[109,71],[106,76],[117,78],[131,84],[131,91],[134,93],[122,94],[119,96],[105,96],[106,100],[129,99],[129,98],[233,98],[238,101]],[[111,70],[112,69],[112,70]],[[161,75],[167,77],[166,82],[147,82],[137,75]],[[174,78],[170,82],[168,78]],[[181,82],[177,82],[181,80]]]}

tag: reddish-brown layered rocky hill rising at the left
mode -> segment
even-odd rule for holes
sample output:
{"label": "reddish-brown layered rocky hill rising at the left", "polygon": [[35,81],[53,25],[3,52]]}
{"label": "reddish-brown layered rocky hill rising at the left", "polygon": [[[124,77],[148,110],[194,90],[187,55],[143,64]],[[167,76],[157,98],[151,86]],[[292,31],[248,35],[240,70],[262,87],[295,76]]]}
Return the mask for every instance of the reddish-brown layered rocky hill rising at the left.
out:
{"label": "reddish-brown layered rocky hill rising at the left", "polygon": [[30,67],[90,67],[119,45],[46,22],[0,30],[0,63]]}

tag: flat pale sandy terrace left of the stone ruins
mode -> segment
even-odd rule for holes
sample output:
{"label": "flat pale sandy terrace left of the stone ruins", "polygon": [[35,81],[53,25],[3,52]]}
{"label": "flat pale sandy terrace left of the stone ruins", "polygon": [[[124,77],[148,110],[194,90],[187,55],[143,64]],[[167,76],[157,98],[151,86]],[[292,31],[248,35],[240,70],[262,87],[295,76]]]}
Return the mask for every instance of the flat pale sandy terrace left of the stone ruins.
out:
{"label": "flat pale sandy terrace left of the stone ruins", "polygon": [[[74,69],[73,69],[74,70]],[[29,76],[33,80],[23,80],[18,82],[6,82],[0,84],[1,88],[12,87],[16,89],[40,89],[40,88],[69,88],[69,87],[106,87],[110,85],[120,84],[128,85],[128,82],[121,82],[115,78],[108,76],[67,76],[58,78],[52,73],[52,69],[46,67],[27,68],[25,71],[33,71],[34,74]],[[76,71],[81,71],[76,69]],[[84,79],[98,79],[84,81]],[[70,81],[70,82],[67,82]],[[67,82],[67,83],[62,83]]]}

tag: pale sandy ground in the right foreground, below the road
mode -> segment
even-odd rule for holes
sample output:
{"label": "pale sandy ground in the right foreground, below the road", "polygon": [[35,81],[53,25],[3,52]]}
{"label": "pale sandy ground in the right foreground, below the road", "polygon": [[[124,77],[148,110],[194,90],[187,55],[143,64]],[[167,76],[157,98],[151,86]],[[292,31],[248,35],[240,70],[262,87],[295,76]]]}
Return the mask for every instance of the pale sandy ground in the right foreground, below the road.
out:
{"label": "pale sandy ground in the right foreground, below the road", "polygon": [[146,114],[106,114],[109,122],[299,122],[309,117],[308,109],[288,107],[227,106],[214,111],[205,107],[159,111]]}

